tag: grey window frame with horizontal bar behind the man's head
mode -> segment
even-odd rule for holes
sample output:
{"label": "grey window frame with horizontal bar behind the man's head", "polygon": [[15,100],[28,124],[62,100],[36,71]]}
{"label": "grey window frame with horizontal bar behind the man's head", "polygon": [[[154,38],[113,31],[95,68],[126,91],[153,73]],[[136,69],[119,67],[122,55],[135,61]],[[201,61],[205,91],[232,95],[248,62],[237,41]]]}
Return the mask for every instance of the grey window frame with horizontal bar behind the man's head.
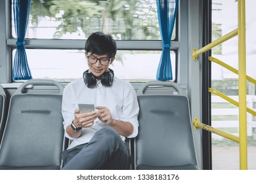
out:
{"label": "grey window frame with horizontal bar behind the man's head", "polygon": [[[187,54],[180,54],[181,47],[185,48],[186,46],[186,36],[184,39],[181,39],[181,30],[187,30],[182,27],[187,27],[188,19],[187,12],[184,16],[184,13],[181,15],[182,9],[186,8],[188,3],[179,1],[179,10],[177,11],[177,22],[176,22],[176,38],[171,41],[170,50],[174,51],[176,54],[176,68],[175,68],[175,81],[178,82],[180,80],[181,83],[186,83],[186,75],[179,74],[181,71],[181,60],[188,60],[186,58]],[[11,1],[5,0],[0,2],[0,7],[2,11],[0,14],[0,25],[3,23],[4,26],[1,26],[0,31],[5,32],[5,35],[0,35],[0,41],[4,40],[4,43],[0,43],[1,50],[5,51],[4,56],[0,56],[0,69],[5,68],[5,71],[0,72],[0,83],[11,83],[15,82],[12,79],[12,50],[16,48],[16,39],[12,38],[11,34]],[[184,22],[182,22],[185,20]],[[186,33],[187,35],[187,33]],[[184,44],[181,45],[181,41]],[[72,40],[72,39],[25,39],[25,47],[26,48],[38,48],[38,49],[84,49],[85,40]],[[117,50],[162,50],[162,41],[120,41],[117,40]],[[149,44],[150,42],[150,44]],[[184,49],[187,52],[187,48]],[[5,59],[6,61],[3,61]],[[186,67],[186,62],[185,67]],[[179,66],[180,65],[180,66]],[[2,67],[2,68],[1,68]]]}

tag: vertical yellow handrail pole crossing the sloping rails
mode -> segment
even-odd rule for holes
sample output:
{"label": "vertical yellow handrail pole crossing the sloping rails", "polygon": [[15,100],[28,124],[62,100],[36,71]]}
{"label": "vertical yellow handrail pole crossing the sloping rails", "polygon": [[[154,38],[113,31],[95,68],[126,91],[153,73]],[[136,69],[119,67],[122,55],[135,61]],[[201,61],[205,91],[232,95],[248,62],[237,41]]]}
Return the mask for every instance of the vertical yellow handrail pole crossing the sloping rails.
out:
{"label": "vertical yellow handrail pole crossing the sloping rails", "polygon": [[245,61],[245,0],[238,0],[238,82],[240,169],[247,169],[246,61]]}

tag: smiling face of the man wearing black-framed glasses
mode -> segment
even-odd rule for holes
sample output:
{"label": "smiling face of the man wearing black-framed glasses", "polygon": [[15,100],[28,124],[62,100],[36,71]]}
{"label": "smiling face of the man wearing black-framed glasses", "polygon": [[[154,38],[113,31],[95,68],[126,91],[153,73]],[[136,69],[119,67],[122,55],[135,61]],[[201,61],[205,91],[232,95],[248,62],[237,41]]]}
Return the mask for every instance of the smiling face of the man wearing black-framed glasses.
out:
{"label": "smiling face of the man wearing black-framed glasses", "polygon": [[[115,59],[115,58],[108,58],[107,54],[97,55],[97,54],[85,53],[85,57],[87,58],[87,63],[91,73],[93,73],[93,75],[95,75],[98,80],[100,79],[100,76],[108,70],[109,65]],[[90,62],[91,60],[89,61],[89,59],[93,60],[93,62]],[[109,61],[106,61],[107,59]]]}

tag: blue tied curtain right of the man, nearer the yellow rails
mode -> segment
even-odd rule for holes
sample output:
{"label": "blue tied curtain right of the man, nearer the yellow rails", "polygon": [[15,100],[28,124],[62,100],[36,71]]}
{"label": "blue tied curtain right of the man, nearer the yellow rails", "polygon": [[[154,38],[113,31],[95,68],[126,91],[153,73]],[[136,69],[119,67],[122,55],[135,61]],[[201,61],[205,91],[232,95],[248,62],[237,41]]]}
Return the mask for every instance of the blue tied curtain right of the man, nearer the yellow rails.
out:
{"label": "blue tied curtain right of the man, nearer the yellow rails", "polygon": [[156,0],[158,8],[158,22],[163,42],[163,51],[161,53],[161,59],[156,73],[157,80],[166,81],[173,79],[173,73],[171,71],[170,44],[178,3],[178,0]]}

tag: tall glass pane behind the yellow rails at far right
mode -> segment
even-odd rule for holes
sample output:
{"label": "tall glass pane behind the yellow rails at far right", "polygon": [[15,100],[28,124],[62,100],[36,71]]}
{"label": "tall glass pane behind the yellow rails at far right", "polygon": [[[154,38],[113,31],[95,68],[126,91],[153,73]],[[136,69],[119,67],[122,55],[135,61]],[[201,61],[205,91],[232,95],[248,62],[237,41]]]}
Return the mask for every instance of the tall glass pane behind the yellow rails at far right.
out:
{"label": "tall glass pane behind the yellow rails at far right", "polygon": [[[254,52],[256,39],[254,29],[256,21],[255,1],[246,2],[246,65],[247,75],[256,78]],[[238,2],[235,0],[218,0],[212,3],[212,41],[226,35],[238,27]],[[212,50],[212,56],[224,63],[238,69],[238,37],[234,37]],[[238,101],[238,75],[228,69],[212,63],[211,87]],[[217,95],[211,95],[211,125],[228,133],[238,136],[239,115],[238,107],[221,99]],[[255,84],[247,82],[247,107],[255,108]],[[256,123],[255,116],[247,112],[247,159],[248,169],[256,169]],[[212,169],[240,169],[240,152],[237,142],[224,139],[212,134]]]}

